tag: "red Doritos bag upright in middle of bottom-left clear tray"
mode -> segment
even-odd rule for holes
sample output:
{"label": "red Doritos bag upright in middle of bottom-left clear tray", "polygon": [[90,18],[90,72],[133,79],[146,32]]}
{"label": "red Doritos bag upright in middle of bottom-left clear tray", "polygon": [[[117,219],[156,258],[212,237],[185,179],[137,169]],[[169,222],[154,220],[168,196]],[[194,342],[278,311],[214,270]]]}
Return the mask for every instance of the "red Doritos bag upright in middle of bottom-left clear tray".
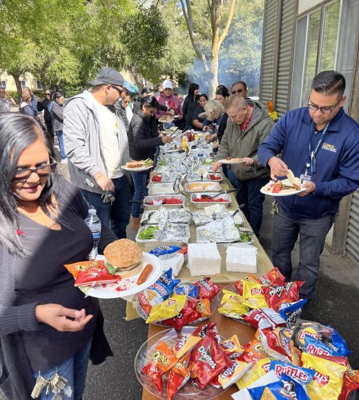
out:
{"label": "red Doritos bag upright in middle of bottom-left clear tray", "polygon": [[207,330],[191,352],[191,377],[196,378],[197,385],[203,389],[227,366],[231,366],[231,361],[220,348],[214,330]]}

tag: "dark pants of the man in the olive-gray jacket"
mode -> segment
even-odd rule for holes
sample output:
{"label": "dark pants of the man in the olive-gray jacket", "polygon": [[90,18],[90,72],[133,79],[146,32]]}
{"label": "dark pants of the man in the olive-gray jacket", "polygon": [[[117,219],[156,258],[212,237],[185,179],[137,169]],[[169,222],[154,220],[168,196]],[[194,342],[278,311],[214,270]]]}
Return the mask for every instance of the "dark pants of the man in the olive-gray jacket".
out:
{"label": "dark pants of the man in the olive-gray jacket", "polygon": [[263,201],[265,198],[265,195],[260,192],[260,188],[266,183],[268,183],[267,177],[249,179],[248,181],[237,179],[235,185],[239,189],[236,195],[237,203],[246,205],[242,208],[242,211],[256,236],[258,236],[262,225]]}

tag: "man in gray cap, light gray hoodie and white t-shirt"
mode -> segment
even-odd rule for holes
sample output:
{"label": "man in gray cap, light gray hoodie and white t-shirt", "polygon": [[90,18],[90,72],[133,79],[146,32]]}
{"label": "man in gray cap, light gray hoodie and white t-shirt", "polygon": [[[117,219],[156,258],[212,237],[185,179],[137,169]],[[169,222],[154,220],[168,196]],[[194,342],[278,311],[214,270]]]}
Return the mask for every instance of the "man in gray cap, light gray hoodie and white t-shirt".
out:
{"label": "man in gray cap, light gray hoodie and white t-shirt", "polygon": [[[129,159],[124,121],[114,104],[125,95],[124,77],[101,68],[83,92],[64,104],[64,144],[71,182],[97,210],[101,223],[122,239],[130,221],[131,192],[121,169]],[[113,200],[113,201],[111,201]]]}

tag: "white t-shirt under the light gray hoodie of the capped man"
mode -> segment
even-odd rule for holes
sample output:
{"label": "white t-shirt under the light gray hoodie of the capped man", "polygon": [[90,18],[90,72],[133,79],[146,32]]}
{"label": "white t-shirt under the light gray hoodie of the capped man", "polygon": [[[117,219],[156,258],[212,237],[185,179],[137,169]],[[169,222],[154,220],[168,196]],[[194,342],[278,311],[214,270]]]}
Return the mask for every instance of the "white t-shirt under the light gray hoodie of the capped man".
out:
{"label": "white t-shirt under the light gray hoodie of the capped man", "polygon": [[94,103],[99,116],[99,126],[102,141],[102,152],[109,178],[120,178],[124,174],[121,170],[121,151],[119,149],[119,123],[113,112],[102,106],[94,97]]}

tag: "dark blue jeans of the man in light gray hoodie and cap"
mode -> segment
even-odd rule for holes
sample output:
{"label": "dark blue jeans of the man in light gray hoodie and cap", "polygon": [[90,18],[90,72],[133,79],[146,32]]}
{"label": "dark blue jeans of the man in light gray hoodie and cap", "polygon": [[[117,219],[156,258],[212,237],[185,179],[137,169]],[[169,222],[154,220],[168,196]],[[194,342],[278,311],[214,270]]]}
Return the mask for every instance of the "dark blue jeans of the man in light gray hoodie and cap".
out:
{"label": "dark blue jeans of the man in light gray hoodie and cap", "polygon": [[97,210],[101,223],[110,228],[118,239],[126,238],[126,226],[130,221],[130,200],[132,198],[130,185],[125,176],[113,179],[115,197],[113,203],[104,203],[101,194],[81,189],[82,196]]}

